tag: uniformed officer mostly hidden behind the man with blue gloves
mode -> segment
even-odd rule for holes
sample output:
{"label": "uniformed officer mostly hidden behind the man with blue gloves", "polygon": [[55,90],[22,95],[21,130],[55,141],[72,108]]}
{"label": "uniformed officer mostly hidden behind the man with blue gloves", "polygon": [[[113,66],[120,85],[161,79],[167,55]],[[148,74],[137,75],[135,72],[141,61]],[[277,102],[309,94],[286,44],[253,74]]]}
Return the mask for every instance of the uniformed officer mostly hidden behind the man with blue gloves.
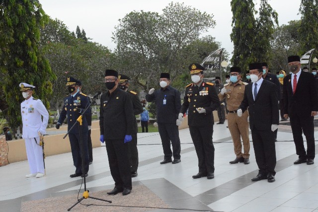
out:
{"label": "uniformed officer mostly hidden behind the man with blue gloves", "polygon": [[118,74],[118,80],[119,80],[119,88],[127,91],[130,94],[130,97],[133,101],[133,107],[134,107],[134,133],[131,135],[132,140],[128,143],[128,156],[129,156],[129,163],[130,163],[130,171],[131,171],[131,177],[137,177],[138,176],[138,148],[137,148],[137,133],[138,133],[138,125],[137,125],[137,119],[136,115],[141,114],[143,110],[143,105],[140,102],[140,99],[136,92],[130,90],[128,91],[129,86],[129,80],[130,77],[126,76],[124,74]]}

